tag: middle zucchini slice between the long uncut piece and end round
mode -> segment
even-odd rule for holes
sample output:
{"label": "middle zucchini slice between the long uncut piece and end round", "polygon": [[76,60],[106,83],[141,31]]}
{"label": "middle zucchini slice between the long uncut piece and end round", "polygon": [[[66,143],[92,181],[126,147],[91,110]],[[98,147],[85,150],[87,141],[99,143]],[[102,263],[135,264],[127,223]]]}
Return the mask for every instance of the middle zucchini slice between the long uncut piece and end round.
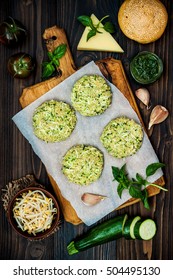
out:
{"label": "middle zucchini slice between the long uncut piece and end round", "polygon": [[136,239],[134,235],[134,227],[135,224],[141,219],[140,216],[136,216],[134,218],[130,218],[126,221],[123,229],[123,237],[125,239]]}

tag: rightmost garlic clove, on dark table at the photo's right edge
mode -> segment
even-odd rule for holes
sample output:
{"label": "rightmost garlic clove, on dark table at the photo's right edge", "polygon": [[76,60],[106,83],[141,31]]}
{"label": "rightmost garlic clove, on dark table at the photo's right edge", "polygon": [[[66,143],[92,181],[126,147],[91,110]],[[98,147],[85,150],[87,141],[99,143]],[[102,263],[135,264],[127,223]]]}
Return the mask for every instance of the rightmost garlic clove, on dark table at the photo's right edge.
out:
{"label": "rightmost garlic clove, on dark table at the photo's right edge", "polygon": [[161,105],[155,106],[151,111],[148,129],[150,129],[154,124],[163,122],[168,117],[168,115],[169,112],[165,107]]}

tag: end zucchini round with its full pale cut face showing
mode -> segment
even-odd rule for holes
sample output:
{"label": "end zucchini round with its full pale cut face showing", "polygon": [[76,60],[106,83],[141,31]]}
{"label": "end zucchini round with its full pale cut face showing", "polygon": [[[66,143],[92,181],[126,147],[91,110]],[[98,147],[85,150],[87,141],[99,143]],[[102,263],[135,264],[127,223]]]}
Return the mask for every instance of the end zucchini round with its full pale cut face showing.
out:
{"label": "end zucchini round with its full pale cut face showing", "polygon": [[138,221],[134,227],[134,235],[137,239],[150,240],[156,234],[156,223],[152,219]]}

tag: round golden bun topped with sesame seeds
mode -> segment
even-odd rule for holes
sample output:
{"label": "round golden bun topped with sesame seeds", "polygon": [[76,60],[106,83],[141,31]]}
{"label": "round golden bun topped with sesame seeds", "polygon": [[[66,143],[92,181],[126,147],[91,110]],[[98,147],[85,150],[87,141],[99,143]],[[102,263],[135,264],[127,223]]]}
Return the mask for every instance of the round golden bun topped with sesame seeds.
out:
{"label": "round golden bun topped with sesame seeds", "polygon": [[167,22],[167,10],[159,0],[125,0],[118,12],[122,32],[141,44],[159,39]]}

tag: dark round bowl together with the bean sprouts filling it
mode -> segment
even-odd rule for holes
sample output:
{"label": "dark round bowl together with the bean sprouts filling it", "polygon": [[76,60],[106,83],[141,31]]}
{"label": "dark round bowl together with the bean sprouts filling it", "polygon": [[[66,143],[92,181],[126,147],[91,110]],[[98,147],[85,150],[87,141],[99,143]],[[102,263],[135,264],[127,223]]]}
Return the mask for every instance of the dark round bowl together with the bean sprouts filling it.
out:
{"label": "dark round bowl together with the bean sprouts filling it", "polygon": [[45,188],[29,186],[17,192],[9,203],[8,218],[13,229],[30,240],[53,234],[60,224],[56,198]]}

